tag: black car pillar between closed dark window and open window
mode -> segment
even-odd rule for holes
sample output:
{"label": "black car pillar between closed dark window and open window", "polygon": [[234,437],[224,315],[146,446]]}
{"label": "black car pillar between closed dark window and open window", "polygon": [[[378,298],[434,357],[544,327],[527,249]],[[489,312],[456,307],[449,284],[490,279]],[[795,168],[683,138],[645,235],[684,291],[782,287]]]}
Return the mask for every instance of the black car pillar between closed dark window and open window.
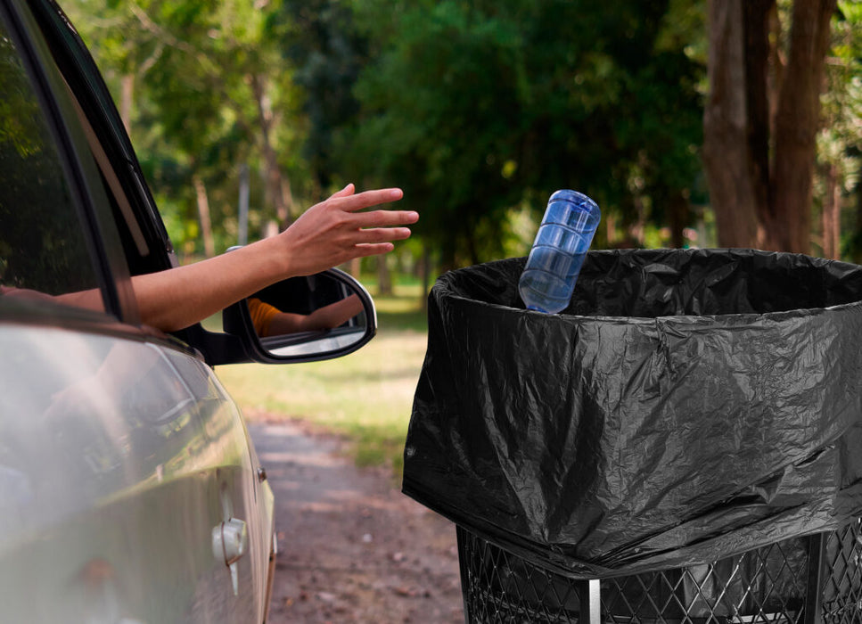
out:
{"label": "black car pillar between closed dark window and open window", "polygon": [[104,311],[114,317],[111,320],[140,324],[137,301],[106,190],[53,54],[27,3],[3,0],[0,19],[4,20],[53,137],[53,147],[98,280]]}

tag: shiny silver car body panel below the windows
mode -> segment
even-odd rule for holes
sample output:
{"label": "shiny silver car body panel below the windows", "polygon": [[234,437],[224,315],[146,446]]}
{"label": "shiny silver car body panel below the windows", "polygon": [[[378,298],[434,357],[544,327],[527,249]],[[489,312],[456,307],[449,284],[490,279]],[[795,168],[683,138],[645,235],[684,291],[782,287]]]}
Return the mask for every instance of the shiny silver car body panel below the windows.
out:
{"label": "shiny silver car body panel below the windows", "polygon": [[[0,353],[0,620],[261,621],[273,496],[209,367],[40,325],[0,324]],[[212,552],[231,517],[235,595]]]}

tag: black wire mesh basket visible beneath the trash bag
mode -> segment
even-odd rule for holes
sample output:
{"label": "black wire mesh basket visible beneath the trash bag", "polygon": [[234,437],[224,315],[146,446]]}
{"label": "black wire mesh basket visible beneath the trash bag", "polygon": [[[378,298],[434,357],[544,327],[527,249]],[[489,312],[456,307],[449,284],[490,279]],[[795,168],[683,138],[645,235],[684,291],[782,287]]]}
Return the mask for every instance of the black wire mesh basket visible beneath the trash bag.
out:
{"label": "black wire mesh basket visible beneath the trash bag", "polygon": [[546,571],[458,528],[471,623],[862,624],[862,531],[793,538],[717,562],[587,584]]}

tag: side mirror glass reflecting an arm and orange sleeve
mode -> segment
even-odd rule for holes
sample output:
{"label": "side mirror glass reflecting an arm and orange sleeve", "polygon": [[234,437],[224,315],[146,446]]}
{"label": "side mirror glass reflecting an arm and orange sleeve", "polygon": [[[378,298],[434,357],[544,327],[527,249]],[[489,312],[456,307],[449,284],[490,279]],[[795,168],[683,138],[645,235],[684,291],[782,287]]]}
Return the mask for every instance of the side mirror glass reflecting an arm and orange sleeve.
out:
{"label": "side mirror glass reflecting an arm and orange sleeve", "polygon": [[270,356],[316,356],[367,341],[370,298],[347,274],[331,269],[291,277],[246,300],[251,324]]}

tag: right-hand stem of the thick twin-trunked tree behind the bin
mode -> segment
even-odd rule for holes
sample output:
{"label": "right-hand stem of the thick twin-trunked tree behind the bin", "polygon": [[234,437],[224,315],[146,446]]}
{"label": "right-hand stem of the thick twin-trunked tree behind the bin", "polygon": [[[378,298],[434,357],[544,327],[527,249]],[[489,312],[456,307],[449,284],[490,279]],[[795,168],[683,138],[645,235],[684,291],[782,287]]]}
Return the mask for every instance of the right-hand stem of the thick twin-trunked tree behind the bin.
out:
{"label": "right-hand stem of the thick twin-trunked tree behind the bin", "polygon": [[776,111],[773,198],[776,249],[809,253],[820,91],[837,0],[796,0]]}

